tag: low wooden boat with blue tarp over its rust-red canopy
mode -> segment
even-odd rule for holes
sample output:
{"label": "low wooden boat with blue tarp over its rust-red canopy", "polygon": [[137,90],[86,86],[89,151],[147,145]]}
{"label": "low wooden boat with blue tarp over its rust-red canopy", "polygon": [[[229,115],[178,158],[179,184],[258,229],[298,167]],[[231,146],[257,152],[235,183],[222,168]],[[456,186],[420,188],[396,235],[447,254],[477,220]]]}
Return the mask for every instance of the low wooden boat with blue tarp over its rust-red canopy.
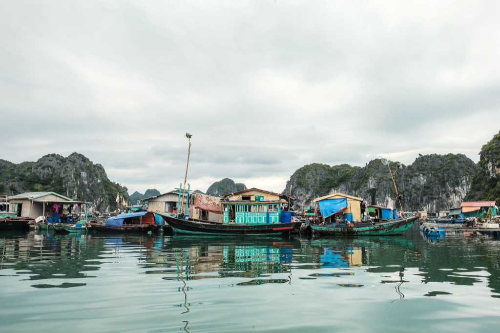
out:
{"label": "low wooden boat with blue tarp over its rust-red canopy", "polygon": [[118,214],[108,217],[105,222],[90,221],[88,224],[97,232],[153,232],[158,227],[150,211]]}

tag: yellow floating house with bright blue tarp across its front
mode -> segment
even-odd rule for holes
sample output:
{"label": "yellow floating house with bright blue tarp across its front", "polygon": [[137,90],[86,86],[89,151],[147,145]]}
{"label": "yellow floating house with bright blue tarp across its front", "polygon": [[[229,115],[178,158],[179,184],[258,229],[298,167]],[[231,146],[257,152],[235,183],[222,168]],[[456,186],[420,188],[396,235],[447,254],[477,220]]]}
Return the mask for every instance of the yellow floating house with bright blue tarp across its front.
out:
{"label": "yellow floating house with bright blue tarp across its front", "polygon": [[363,199],[342,193],[333,193],[314,199],[319,206],[319,211],[326,222],[335,221],[338,215],[342,215],[347,221],[360,221],[361,203]]}

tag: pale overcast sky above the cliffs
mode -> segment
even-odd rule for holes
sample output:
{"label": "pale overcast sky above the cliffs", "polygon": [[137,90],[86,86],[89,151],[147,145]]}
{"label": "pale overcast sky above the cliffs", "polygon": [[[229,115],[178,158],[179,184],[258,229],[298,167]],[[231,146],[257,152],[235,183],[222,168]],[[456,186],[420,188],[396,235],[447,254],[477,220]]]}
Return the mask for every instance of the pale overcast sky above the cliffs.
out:
{"label": "pale overcast sky above the cliffs", "polygon": [[309,163],[474,161],[500,130],[500,1],[0,1],[2,152],[134,191]]}

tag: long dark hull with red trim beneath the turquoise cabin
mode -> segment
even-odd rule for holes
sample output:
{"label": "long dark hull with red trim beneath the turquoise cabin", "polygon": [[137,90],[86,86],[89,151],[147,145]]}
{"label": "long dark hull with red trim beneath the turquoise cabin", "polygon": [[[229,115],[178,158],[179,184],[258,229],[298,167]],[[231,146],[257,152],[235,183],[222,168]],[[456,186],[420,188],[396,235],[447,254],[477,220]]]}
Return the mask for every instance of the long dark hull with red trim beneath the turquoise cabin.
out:
{"label": "long dark hull with red trim beneath the turquoise cabin", "polygon": [[216,223],[195,219],[182,219],[161,212],[161,215],[175,233],[181,234],[245,234],[266,235],[282,234],[300,227],[300,222],[285,223]]}

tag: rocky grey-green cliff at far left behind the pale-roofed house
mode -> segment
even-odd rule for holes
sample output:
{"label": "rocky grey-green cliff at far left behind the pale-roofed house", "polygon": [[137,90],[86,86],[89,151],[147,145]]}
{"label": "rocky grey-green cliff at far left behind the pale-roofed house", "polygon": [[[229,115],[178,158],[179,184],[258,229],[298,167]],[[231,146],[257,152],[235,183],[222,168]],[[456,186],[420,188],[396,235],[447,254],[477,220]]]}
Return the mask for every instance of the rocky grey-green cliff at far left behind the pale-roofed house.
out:
{"label": "rocky grey-green cliff at far left behind the pale-roofed house", "polygon": [[91,209],[115,208],[116,193],[128,199],[127,188],[110,181],[104,168],[79,153],[67,157],[48,154],[36,162],[14,164],[0,161],[0,192],[12,195],[29,191],[53,191],[79,201],[92,202]]}

